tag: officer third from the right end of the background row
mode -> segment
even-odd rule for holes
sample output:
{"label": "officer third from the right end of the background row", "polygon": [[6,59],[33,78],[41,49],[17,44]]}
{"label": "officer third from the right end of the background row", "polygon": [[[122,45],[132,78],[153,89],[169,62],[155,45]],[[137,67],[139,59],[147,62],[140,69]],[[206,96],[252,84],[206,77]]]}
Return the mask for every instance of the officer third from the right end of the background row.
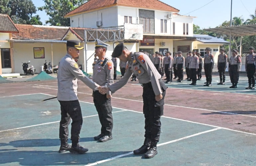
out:
{"label": "officer third from the right end of the background row", "polygon": [[226,68],[227,68],[227,55],[224,53],[225,49],[220,48],[220,54],[218,55],[217,68],[219,71],[219,80],[218,85],[224,85],[226,80]]}

